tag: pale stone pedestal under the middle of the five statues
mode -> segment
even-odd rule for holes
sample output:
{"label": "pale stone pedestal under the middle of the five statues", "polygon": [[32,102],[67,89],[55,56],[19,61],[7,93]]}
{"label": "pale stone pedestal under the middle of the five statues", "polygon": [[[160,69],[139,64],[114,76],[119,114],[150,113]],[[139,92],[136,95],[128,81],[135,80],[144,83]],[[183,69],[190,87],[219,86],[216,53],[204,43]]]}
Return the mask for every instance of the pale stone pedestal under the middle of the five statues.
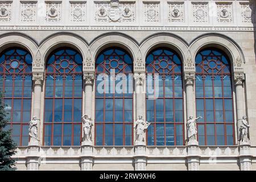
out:
{"label": "pale stone pedestal under the middle of the five statues", "polygon": [[146,171],[146,144],[135,142],[134,154],[135,171]]}

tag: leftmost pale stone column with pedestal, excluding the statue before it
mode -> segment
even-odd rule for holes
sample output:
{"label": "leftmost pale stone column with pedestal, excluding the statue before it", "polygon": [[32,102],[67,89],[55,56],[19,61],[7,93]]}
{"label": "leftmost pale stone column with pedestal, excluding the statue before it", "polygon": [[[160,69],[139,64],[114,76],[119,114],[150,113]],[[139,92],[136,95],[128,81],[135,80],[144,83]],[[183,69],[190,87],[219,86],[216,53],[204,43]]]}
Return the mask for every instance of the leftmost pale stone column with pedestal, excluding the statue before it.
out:
{"label": "leftmost pale stone column with pedestal, excluding the statue before it", "polygon": [[[34,107],[33,107],[33,118],[35,117],[37,122],[37,128],[40,128],[40,118],[41,118],[41,94],[42,94],[42,85],[44,80],[43,73],[33,73],[34,81]],[[38,132],[38,136],[39,132]],[[40,150],[40,137],[39,140],[36,140],[30,137],[30,142],[28,143],[28,155],[27,155],[27,170],[28,171],[37,171],[39,169],[39,150]]]}

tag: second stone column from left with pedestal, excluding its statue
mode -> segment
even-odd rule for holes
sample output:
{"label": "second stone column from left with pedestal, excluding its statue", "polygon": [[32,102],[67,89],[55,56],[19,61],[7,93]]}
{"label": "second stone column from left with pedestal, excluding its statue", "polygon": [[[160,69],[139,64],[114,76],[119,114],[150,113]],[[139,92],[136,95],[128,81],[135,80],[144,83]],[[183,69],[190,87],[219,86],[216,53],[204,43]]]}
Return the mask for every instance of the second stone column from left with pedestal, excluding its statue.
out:
{"label": "second stone column from left with pedestal, excluding its statue", "polygon": [[[88,114],[89,118],[92,118],[92,91],[94,83],[94,72],[84,73],[84,85],[85,85],[85,114]],[[94,125],[94,122],[93,122]],[[83,127],[82,127],[83,128]],[[82,136],[84,138],[84,130],[82,130]],[[93,138],[93,136],[92,136]],[[81,171],[92,171],[93,167],[93,144],[92,140],[82,141],[81,144]]]}

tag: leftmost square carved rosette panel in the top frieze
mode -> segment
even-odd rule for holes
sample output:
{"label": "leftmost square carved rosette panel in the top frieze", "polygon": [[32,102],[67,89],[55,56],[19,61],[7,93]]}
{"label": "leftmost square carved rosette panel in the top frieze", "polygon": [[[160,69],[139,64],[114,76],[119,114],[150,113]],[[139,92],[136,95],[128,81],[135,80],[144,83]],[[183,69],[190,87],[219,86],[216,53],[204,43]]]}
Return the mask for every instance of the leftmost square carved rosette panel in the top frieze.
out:
{"label": "leftmost square carved rosette panel in the top frieze", "polygon": [[20,21],[35,22],[36,21],[36,5],[37,2],[21,2],[20,3]]}

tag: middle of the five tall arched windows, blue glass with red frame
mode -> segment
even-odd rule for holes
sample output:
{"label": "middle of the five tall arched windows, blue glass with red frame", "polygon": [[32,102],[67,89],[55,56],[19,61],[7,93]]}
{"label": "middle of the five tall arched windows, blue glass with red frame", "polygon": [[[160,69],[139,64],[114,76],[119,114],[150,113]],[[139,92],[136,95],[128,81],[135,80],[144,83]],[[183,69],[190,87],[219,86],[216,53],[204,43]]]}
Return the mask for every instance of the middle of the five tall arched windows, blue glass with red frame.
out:
{"label": "middle of the five tall arched windows, blue glass with red frame", "polygon": [[[110,73],[116,79],[112,79]],[[95,104],[97,146],[133,144],[133,76],[129,76],[129,73],[133,73],[133,61],[125,50],[110,48],[97,57]]]}

